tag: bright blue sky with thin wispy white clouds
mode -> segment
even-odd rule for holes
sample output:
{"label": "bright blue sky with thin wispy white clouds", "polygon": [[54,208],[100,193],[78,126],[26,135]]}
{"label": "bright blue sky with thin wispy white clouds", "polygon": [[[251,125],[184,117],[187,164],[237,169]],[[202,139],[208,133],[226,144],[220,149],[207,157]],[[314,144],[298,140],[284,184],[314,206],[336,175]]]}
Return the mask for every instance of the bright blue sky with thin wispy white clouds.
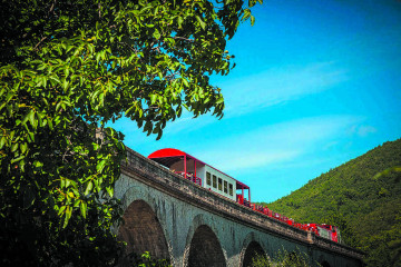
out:
{"label": "bright blue sky with thin wispy white clouds", "polygon": [[401,137],[401,1],[270,0],[253,14],[228,42],[237,67],[212,77],[224,118],[184,113],[158,141],[121,119],[128,147],[184,150],[273,201]]}

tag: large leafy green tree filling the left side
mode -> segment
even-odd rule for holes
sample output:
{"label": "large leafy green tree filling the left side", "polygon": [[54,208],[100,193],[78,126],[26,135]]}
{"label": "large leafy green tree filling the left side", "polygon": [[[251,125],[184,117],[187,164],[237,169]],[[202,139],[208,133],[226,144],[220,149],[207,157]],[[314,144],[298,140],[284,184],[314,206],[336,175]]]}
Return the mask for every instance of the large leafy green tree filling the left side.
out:
{"label": "large leafy green tree filling the left side", "polygon": [[1,1],[2,266],[116,263],[125,147],[106,123],[160,138],[183,109],[222,117],[209,76],[234,67],[226,42],[255,3]]}

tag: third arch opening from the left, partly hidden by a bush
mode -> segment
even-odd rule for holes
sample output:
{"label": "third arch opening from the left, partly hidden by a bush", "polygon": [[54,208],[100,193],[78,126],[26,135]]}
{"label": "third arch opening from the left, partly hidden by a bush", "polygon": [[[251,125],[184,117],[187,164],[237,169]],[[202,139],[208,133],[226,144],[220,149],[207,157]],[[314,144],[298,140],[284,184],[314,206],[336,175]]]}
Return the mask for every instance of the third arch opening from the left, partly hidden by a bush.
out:
{"label": "third arch opening from the left, partly hidden by a bush", "polygon": [[263,249],[261,245],[261,240],[255,233],[250,233],[243,243],[243,248],[241,251],[241,263],[239,266],[248,267],[252,265],[252,259],[256,256],[267,257],[266,251]]}

